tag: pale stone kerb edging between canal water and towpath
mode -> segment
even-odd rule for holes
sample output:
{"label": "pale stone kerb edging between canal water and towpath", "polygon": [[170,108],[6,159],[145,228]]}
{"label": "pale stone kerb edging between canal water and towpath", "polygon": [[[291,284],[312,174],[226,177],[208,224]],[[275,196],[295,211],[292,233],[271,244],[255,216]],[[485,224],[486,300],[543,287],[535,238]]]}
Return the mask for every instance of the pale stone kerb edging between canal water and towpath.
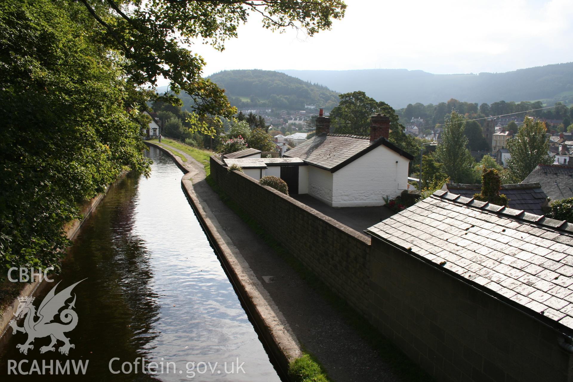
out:
{"label": "pale stone kerb edging between canal water and towpath", "polygon": [[[146,142],[166,152],[177,166],[185,172],[181,178],[183,191],[195,210],[199,221],[219,254],[227,275],[233,281],[237,292],[249,310],[259,332],[265,338],[283,374],[288,374],[289,363],[303,355],[299,341],[292,332],[285,317],[274,303],[262,283],[257,279],[240,251],[233,245],[225,231],[219,225],[216,216],[195,193],[191,177],[197,174],[195,169],[185,166],[180,157],[172,154],[167,148]],[[227,244],[228,243],[228,244]]]}

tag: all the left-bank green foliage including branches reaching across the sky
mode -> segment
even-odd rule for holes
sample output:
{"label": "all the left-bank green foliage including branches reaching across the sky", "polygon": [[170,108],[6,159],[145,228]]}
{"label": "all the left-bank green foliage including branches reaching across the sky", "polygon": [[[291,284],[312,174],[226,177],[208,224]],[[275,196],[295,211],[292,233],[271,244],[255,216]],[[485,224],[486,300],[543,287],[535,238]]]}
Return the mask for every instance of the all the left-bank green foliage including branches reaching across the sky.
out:
{"label": "all the left-bank green foliage including branches reaching across the sky", "polygon": [[[339,0],[0,2],[2,265],[57,266],[77,204],[126,169],[149,171],[139,130],[150,99],[179,103],[185,90],[203,133],[234,114],[190,44],[221,50],[253,13],[269,29],[312,36],[344,9]],[[144,90],[160,77],[175,94]]]}

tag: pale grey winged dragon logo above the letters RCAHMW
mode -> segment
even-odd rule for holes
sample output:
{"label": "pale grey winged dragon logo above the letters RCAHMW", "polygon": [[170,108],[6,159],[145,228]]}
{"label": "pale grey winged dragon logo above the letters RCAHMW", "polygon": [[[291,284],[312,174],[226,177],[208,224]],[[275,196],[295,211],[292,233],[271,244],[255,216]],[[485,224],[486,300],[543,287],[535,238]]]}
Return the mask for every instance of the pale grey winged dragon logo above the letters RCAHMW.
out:
{"label": "pale grey winged dragon logo above the letters RCAHMW", "polygon": [[[33,305],[34,297],[18,298],[20,304],[18,305],[16,313],[14,313],[14,320],[10,322],[10,326],[13,330],[12,334],[16,334],[17,332],[28,333],[28,340],[23,344],[16,345],[21,353],[28,354],[28,349],[34,349],[32,342],[34,342],[36,338],[47,336],[52,338],[52,342],[50,342],[48,346],[42,346],[40,353],[55,351],[56,348],[54,345],[56,345],[58,340],[64,342],[64,345],[60,346],[58,351],[66,356],[70,348],[76,347],[70,344],[69,338],[64,335],[65,332],[71,332],[77,325],[77,313],[72,309],[75,308],[76,294],[73,295],[73,301],[68,304],[68,308],[60,312],[60,320],[64,324],[52,321],[54,320],[54,316],[58,314],[58,311],[61,308],[65,308],[66,301],[72,297],[72,289],[74,286],[84,280],[80,280],[56,294],[56,288],[60,285],[60,282],[58,282],[54,288],[48,292],[46,297],[44,297],[44,300],[42,300],[38,308],[38,312],[36,312],[36,307]],[[26,316],[26,318],[24,319],[23,326],[18,326],[16,320],[24,316]]]}

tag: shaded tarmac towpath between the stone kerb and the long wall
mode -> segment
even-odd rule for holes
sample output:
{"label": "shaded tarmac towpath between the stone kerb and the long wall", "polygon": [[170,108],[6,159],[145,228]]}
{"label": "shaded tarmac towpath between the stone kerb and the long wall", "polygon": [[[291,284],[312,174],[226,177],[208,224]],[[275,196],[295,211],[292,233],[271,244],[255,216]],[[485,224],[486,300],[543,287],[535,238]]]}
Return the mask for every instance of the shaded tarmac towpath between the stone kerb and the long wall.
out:
{"label": "shaded tarmac towpath between the stone kerb and the long wall", "polygon": [[[209,208],[222,227],[229,248],[240,251],[264,286],[297,340],[317,357],[331,380],[337,382],[400,381],[376,351],[340,317],[316,290],[312,289],[233,210],[222,202],[205,180],[203,164],[187,153],[161,143],[186,157],[180,162],[189,171],[199,201]],[[288,233],[285,233],[288,234]],[[293,238],[295,239],[295,238]]]}

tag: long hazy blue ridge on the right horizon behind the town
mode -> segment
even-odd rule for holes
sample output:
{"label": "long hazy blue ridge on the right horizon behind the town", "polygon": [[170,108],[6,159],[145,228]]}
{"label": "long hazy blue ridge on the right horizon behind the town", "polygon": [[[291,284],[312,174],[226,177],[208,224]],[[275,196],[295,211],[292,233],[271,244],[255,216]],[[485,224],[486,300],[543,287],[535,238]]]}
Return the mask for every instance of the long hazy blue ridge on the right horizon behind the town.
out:
{"label": "long hazy blue ridge on the right horizon behind the town", "polygon": [[477,103],[542,100],[551,105],[573,101],[573,62],[480,74],[432,74],[406,69],[280,72],[318,82],[340,93],[363,90],[394,108],[417,102],[437,104],[451,98]]}

